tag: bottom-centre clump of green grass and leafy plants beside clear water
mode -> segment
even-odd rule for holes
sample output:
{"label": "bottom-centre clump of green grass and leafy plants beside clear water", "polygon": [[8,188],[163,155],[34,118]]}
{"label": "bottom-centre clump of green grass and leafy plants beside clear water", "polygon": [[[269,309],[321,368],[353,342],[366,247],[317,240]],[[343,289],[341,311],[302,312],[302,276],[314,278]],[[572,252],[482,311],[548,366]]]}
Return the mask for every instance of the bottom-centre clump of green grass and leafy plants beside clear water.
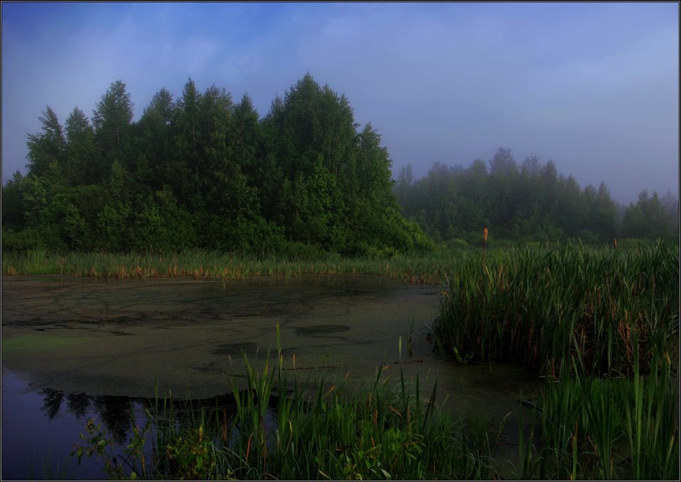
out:
{"label": "bottom-centre clump of green grass and leafy plants beside clear water", "polygon": [[[244,357],[245,377],[228,379],[236,410],[207,413],[187,405],[182,423],[174,406],[156,398],[151,425],[133,430],[130,459],[116,464],[99,432],[77,450],[99,455],[112,478],[201,479],[432,479],[490,478],[494,434],[486,420],[456,420],[428,398],[418,377],[375,378],[351,388],[347,376],[299,379],[277,352]],[[292,380],[289,380],[289,376]],[[94,422],[89,422],[88,427]],[[153,441],[146,447],[143,439]],[[103,442],[104,441],[104,442]],[[78,452],[77,452],[78,454]]]}

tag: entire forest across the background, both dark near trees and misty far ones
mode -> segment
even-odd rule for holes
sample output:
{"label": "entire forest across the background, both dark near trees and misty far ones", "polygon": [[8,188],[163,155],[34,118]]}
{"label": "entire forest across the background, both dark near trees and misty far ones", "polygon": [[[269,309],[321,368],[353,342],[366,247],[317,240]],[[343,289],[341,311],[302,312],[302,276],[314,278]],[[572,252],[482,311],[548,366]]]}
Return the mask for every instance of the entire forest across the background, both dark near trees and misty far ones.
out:
{"label": "entire forest across the background, both dark near trees and misty far ones", "polygon": [[644,191],[618,208],[604,184],[582,190],[503,148],[489,169],[435,164],[415,181],[407,166],[393,181],[377,131],[310,74],[262,119],[248,95],[189,79],[137,122],[121,81],[92,119],[74,108],[62,126],[48,106],[40,121],[26,176],[2,187],[3,250],[385,256],[478,242],[484,227],[506,240],[678,236],[678,200]]}

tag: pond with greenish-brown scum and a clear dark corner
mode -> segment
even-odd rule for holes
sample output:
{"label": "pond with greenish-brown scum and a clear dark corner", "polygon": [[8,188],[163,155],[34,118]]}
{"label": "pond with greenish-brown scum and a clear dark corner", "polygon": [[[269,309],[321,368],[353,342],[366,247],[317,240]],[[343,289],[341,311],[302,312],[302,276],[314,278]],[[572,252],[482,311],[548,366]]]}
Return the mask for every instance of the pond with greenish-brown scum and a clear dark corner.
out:
{"label": "pond with greenish-brown scum and a clear dark corner", "polygon": [[462,415],[500,421],[536,382],[515,366],[441,360],[423,331],[438,315],[439,286],[375,276],[2,281],[4,479],[54,478],[65,467],[67,478],[105,478],[101,466],[84,472],[64,459],[87,417],[102,422],[123,407],[126,427],[155,387],[175,400],[225,396],[227,377],[245,373],[243,354],[258,365],[276,352],[277,324],[297,376],[367,383],[381,368],[395,379],[418,373],[424,390],[437,380],[438,403]]}

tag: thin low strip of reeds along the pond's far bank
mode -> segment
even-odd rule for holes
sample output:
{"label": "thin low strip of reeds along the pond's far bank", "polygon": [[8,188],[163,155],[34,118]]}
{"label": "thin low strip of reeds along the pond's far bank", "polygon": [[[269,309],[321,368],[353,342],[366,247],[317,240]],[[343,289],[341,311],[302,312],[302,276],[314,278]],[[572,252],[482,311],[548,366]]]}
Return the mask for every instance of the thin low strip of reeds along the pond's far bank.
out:
{"label": "thin low strip of reeds along the pond's far bank", "polygon": [[258,276],[297,277],[372,274],[410,283],[439,284],[457,269],[459,251],[397,255],[385,259],[341,257],[258,258],[248,254],[189,251],[172,254],[3,252],[2,274],[67,274],[97,278],[193,278],[243,280]]}

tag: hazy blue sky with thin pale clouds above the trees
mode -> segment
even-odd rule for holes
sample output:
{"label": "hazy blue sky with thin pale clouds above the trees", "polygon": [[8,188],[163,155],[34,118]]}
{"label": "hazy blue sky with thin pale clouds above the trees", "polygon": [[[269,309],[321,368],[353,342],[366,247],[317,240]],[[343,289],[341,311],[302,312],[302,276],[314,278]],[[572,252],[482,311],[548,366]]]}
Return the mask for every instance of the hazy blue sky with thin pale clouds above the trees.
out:
{"label": "hazy blue sky with thin pale clouds above the trees", "polygon": [[261,117],[309,72],[382,136],[394,176],[537,155],[620,203],[679,193],[679,3],[1,5],[2,179],[50,106],[92,118],[122,80],[135,120],[165,87],[248,93]]}

